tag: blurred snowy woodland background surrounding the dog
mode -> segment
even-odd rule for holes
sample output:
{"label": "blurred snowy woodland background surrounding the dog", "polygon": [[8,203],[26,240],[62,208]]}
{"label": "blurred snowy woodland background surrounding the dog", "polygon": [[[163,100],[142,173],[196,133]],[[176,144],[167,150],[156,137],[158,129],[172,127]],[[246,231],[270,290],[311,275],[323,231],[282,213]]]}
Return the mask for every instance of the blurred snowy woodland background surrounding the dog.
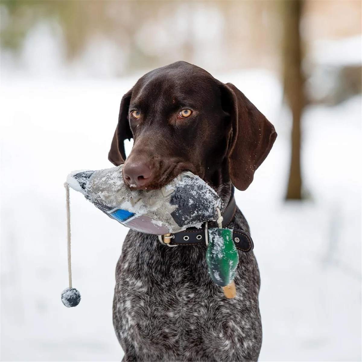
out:
{"label": "blurred snowy woodland background surrounding the dog", "polygon": [[[0,0],[1,361],[120,361],[127,229],[63,182],[107,159],[121,97],[186,60],[232,82],[278,138],[236,200],[261,272],[260,361],[361,361],[360,0]],[[132,144],[127,143],[129,152]]]}

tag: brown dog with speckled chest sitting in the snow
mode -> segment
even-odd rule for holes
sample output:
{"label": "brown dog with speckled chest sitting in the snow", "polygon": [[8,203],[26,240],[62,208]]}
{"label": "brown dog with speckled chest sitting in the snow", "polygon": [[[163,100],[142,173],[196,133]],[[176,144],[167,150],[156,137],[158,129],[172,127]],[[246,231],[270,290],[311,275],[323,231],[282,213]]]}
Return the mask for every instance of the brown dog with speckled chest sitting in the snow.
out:
{"label": "brown dog with speckled chest sitting in the snow", "polygon": [[[127,185],[159,189],[191,171],[222,198],[245,190],[277,133],[233,84],[176,62],[141,77],[121,101],[109,160]],[[123,142],[133,138],[126,158]],[[228,228],[249,233],[236,208]],[[253,252],[238,251],[237,295],[227,299],[208,274],[206,244],[168,247],[130,230],[116,267],[113,325],[123,362],[257,361],[262,328]]]}

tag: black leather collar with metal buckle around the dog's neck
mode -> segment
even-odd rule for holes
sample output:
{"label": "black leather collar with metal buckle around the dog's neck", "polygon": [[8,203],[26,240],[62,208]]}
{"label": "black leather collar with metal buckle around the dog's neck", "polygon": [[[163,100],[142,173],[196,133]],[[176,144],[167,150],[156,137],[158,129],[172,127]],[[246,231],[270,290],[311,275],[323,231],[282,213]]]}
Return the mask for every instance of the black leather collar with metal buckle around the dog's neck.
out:
{"label": "black leather collar with metal buckle around the dog's neck", "polygon": [[[223,216],[222,226],[223,227],[228,226],[228,224],[233,219],[235,212],[236,212],[236,203],[235,203],[235,198],[234,198],[234,188],[232,188],[232,194],[231,194],[230,201],[228,203],[228,206],[222,213],[222,216]],[[180,232],[171,234],[171,236],[166,237],[166,239],[163,239],[163,237],[160,236],[160,241],[162,243],[164,243],[165,240],[166,240],[166,242],[168,240],[170,240],[170,242],[167,243],[167,245],[169,245],[169,246],[205,244],[206,243],[205,235],[207,233],[207,229],[217,228],[217,227],[218,227],[218,224],[216,222],[209,221],[207,223],[207,227],[206,227],[205,223],[203,223],[201,228],[190,227],[184,231],[180,231]],[[253,250],[254,243],[253,243],[251,236],[247,232],[245,232],[244,230],[233,229],[232,233],[233,233],[232,236],[233,236],[234,244],[237,249],[244,251],[246,253]]]}

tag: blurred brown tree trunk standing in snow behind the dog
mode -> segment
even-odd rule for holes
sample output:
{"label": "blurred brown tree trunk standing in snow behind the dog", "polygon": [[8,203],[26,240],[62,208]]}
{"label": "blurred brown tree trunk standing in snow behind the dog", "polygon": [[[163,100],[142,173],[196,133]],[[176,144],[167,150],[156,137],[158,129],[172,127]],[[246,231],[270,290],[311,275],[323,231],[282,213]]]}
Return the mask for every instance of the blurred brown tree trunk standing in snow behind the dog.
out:
{"label": "blurred brown tree trunk standing in snow behind the dog", "polygon": [[300,118],[305,104],[302,74],[302,45],[299,25],[303,0],[282,0],[284,25],[283,69],[284,96],[292,117],[291,161],[286,199],[302,199],[302,177],[300,174]]}

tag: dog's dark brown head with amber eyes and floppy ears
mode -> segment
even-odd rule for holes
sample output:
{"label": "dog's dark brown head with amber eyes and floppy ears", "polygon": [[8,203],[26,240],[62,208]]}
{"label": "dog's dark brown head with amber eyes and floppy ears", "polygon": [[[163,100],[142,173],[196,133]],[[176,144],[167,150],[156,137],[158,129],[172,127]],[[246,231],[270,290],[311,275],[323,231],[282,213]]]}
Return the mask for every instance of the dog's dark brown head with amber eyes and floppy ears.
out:
{"label": "dog's dark brown head with amber eyes and floppy ears", "polygon": [[[140,78],[121,101],[109,160],[128,185],[158,189],[182,171],[217,188],[251,184],[277,133],[231,83],[176,62]],[[134,139],[126,159],[123,141]]]}

